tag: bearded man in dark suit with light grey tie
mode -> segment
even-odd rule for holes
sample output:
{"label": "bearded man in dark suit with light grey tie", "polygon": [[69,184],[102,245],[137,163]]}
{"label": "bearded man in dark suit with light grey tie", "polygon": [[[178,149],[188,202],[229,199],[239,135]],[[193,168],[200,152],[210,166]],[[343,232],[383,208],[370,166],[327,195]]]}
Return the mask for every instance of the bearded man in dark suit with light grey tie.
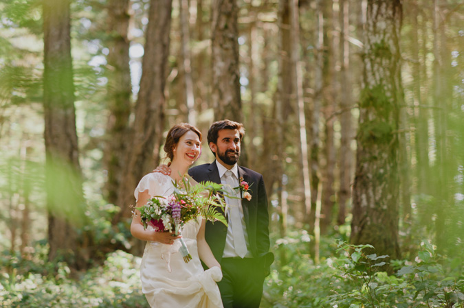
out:
{"label": "bearded man in dark suit with light grey tie", "polygon": [[242,123],[212,123],[208,145],[216,160],[188,171],[197,182],[237,187],[230,191],[237,198],[225,197],[228,226],[206,222],[206,241],[223,272],[217,285],[224,308],[258,308],[265,276],[274,261],[274,254],[269,252],[269,213],[263,176],[237,165],[244,134]]}

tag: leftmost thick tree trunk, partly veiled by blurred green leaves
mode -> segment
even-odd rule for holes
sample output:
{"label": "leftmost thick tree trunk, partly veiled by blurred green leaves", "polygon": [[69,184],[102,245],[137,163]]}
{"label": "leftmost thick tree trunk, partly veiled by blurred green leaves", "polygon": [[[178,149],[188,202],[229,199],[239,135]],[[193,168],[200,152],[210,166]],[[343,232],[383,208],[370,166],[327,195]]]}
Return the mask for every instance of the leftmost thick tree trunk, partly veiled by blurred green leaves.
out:
{"label": "leftmost thick tree trunk, partly veiled by blurred green leaves", "polygon": [[[46,189],[49,260],[58,256],[71,268],[84,268],[85,202],[78,161],[71,64],[69,1],[43,1]],[[84,244],[85,245],[85,244]]]}

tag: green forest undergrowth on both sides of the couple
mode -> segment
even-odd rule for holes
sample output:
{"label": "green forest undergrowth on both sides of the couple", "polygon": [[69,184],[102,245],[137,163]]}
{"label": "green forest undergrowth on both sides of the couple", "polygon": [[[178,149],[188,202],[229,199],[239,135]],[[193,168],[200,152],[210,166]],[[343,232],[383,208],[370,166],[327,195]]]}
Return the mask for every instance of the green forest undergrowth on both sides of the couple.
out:
{"label": "green forest undergrowth on both sides of the couple", "polygon": [[[390,261],[372,253],[372,246],[324,237],[319,264],[311,259],[311,237],[304,230],[274,242],[276,262],[265,281],[261,308],[464,307],[461,258],[441,257],[429,241],[421,241],[411,260]],[[139,257],[118,250],[102,265],[76,274],[63,262],[46,261],[43,242],[30,256],[3,252],[0,307],[148,308]]]}

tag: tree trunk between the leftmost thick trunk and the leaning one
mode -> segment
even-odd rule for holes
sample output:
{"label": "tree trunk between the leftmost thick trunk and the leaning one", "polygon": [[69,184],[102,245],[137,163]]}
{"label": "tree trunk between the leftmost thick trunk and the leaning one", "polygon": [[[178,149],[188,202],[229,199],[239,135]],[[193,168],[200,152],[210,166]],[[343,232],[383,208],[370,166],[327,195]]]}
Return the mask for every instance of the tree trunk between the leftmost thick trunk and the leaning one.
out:
{"label": "tree trunk between the leftmost thick trunk and the leaning one", "polygon": [[129,69],[129,0],[109,1],[108,29],[109,54],[107,56],[107,97],[109,117],[107,140],[104,149],[104,168],[108,202],[115,204],[126,161],[129,115],[131,114],[131,71]]}

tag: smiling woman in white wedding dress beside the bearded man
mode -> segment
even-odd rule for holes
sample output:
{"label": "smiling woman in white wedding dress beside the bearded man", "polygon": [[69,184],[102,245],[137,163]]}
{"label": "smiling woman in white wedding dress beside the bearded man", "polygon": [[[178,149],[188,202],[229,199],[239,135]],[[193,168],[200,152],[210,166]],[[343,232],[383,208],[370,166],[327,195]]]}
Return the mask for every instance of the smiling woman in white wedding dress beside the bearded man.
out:
{"label": "smiling woman in white wedding dress beside the bearded man", "polygon": [[[147,174],[135,189],[136,207],[146,204],[154,196],[169,196],[173,193],[173,180],[181,180],[201,153],[201,132],[188,123],[180,123],[168,132],[164,152],[170,158],[171,176],[161,173]],[[193,180],[190,178],[190,181]],[[216,282],[221,281],[221,265],[214,259],[205,239],[205,220],[189,221],[182,229],[192,260],[184,262],[179,252],[180,236],[170,232],[157,232],[148,226],[144,229],[140,211],[135,209],[131,234],[147,241],[140,278],[142,292],[151,307],[223,307]],[[203,270],[201,261],[208,266]]]}

